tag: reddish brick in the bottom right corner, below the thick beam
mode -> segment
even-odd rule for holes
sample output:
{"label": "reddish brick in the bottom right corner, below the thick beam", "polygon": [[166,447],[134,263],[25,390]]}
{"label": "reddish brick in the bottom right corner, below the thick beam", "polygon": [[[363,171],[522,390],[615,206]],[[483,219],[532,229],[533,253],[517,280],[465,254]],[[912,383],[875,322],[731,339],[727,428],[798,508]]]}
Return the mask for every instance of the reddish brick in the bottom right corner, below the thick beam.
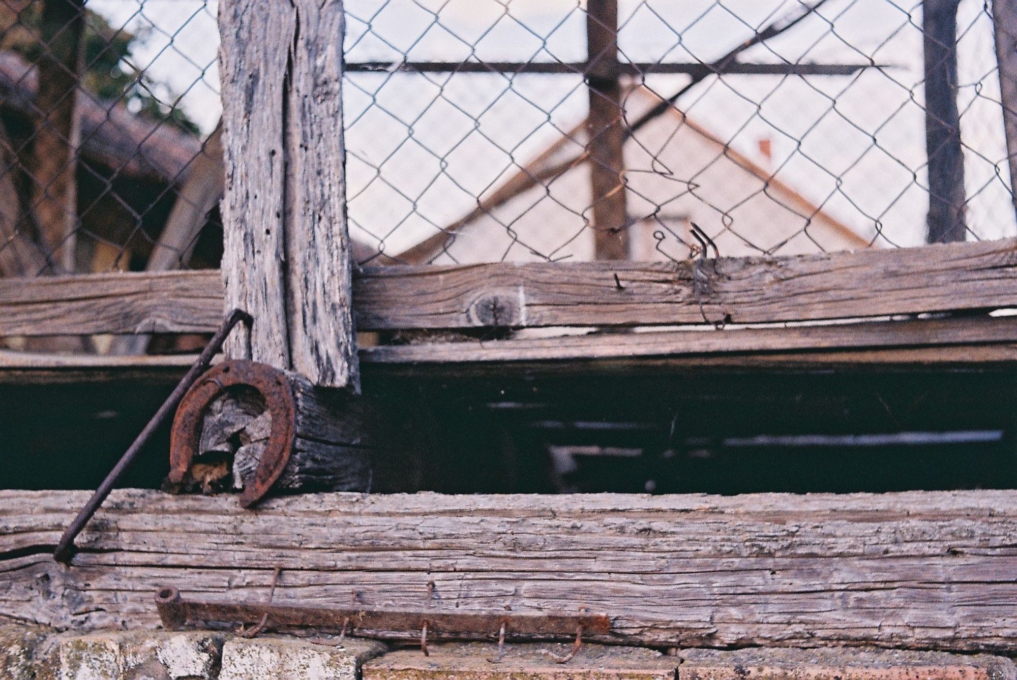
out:
{"label": "reddish brick in the bottom right corner, below the thick beam", "polygon": [[678,680],[1017,680],[1009,659],[895,650],[684,650]]}

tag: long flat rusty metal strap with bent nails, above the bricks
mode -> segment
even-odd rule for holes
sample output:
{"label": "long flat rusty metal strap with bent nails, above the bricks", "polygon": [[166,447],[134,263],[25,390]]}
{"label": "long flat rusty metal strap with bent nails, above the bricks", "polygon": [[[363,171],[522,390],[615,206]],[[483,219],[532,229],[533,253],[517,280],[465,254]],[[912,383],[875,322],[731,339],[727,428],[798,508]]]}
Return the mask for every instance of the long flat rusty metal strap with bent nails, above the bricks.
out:
{"label": "long flat rusty metal strap with bent nails, above the bricks", "polygon": [[[463,611],[436,607],[398,608],[271,604],[191,600],[172,586],[156,592],[156,608],[163,627],[236,625],[271,622],[272,627],[312,627],[342,630],[346,635],[378,639],[420,640],[572,640],[579,635],[611,631],[606,614],[561,614],[511,610]],[[581,639],[581,638],[580,638]],[[579,644],[579,642],[577,642]],[[575,653],[573,653],[575,654]],[[570,656],[570,658],[572,658]],[[567,660],[566,660],[567,661]]]}

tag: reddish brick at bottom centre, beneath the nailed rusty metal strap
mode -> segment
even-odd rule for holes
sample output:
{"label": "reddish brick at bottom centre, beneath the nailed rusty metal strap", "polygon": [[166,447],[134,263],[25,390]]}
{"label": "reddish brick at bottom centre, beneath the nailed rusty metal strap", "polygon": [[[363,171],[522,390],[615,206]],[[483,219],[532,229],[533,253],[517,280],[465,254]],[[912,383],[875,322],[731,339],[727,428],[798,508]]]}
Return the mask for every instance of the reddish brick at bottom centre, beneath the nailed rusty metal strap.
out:
{"label": "reddish brick at bottom centre, beneath the nailed rusty metal strap", "polygon": [[584,644],[575,659],[556,664],[571,644],[506,644],[500,664],[496,644],[431,644],[401,650],[363,667],[363,680],[674,680],[678,660],[653,650]]}

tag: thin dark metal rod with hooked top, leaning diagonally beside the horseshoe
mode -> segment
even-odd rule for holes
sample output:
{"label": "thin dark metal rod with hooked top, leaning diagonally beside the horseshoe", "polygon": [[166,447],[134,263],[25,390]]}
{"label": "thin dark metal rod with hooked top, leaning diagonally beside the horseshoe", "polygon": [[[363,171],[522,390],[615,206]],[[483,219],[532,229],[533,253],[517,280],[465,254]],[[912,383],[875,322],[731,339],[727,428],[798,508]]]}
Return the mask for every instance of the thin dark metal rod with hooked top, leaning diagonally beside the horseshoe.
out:
{"label": "thin dark metal rod with hooked top, leaning diagonally beside the horseshoe", "polygon": [[194,365],[191,366],[189,371],[187,371],[187,375],[180,380],[177,386],[173,389],[173,392],[167,397],[166,401],[163,403],[163,406],[159,407],[159,411],[156,412],[156,415],[152,417],[148,424],[145,425],[144,429],[137,435],[137,438],[134,439],[134,443],[130,445],[130,448],[124,451],[124,454],[120,457],[117,465],[113,467],[110,474],[106,476],[103,483],[99,485],[98,489],[96,489],[96,493],[92,494],[92,498],[88,499],[88,502],[84,504],[84,507],[82,507],[80,512],[77,513],[77,516],[74,517],[74,521],[70,522],[70,526],[63,533],[63,536],[60,537],[60,542],[57,544],[56,550],[53,551],[53,559],[58,562],[63,562],[64,564],[70,563],[70,559],[74,555],[74,539],[81,533],[84,526],[88,523],[92,516],[96,514],[96,510],[98,510],[99,506],[103,504],[106,497],[110,495],[110,492],[113,490],[113,485],[117,483],[117,480],[119,480],[124,474],[127,467],[134,460],[141,448],[148,442],[153,433],[155,433],[159,426],[173,414],[187,389],[194,383],[195,380],[197,380],[198,376],[207,370],[208,366],[212,364],[213,357],[215,357],[216,353],[222,349],[223,343],[226,342],[226,338],[230,334],[230,331],[233,330],[233,327],[240,321],[249,325],[252,320],[251,315],[243,310],[234,309],[230,312],[229,316],[227,316],[226,320],[223,322],[223,325],[220,326],[219,330],[216,331],[216,334],[212,336],[212,339],[208,341],[208,344],[201,351],[197,361],[194,362]]}

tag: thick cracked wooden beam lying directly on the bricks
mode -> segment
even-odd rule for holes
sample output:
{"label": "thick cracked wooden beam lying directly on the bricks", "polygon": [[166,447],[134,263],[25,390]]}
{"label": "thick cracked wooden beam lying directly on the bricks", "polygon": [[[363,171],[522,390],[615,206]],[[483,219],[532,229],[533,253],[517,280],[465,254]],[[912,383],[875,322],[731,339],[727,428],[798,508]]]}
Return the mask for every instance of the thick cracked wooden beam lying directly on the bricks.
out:
{"label": "thick cracked wooden beam lying directly on the bricks", "polygon": [[1017,648],[1017,492],[362,496],[119,491],[71,568],[83,492],[0,492],[0,614],[152,626],[152,594],[609,614],[604,641]]}

